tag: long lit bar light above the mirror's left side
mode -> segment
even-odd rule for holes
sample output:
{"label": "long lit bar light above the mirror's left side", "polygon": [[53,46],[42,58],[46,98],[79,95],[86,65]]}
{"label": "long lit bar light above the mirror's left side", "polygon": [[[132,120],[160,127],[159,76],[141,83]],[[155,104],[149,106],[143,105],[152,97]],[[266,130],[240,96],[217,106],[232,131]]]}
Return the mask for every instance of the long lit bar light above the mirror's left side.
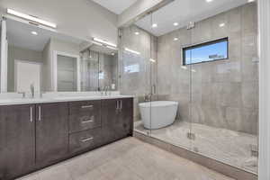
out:
{"label": "long lit bar light above the mirror's left side", "polygon": [[47,21],[41,20],[38,17],[32,16],[32,15],[28,15],[28,14],[22,14],[20,12],[14,11],[13,9],[7,9],[7,14],[12,14],[14,16],[23,18],[25,20],[29,20],[30,22],[33,22],[33,23],[40,23],[42,25],[49,26],[51,28],[57,28],[57,24],[56,23],[49,23]]}

